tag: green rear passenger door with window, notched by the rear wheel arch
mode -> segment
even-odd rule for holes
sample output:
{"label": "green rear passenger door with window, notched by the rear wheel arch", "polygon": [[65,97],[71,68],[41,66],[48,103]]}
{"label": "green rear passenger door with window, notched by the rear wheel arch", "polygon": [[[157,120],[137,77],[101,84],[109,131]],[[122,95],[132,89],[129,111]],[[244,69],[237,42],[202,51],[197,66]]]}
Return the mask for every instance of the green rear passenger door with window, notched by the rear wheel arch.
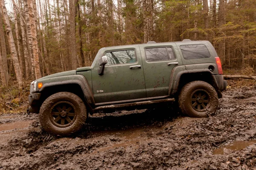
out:
{"label": "green rear passenger door with window, notched by the rear wheel arch", "polygon": [[172,69],[182,65],[175,43],[140,45],[147,97],[167,96]]}

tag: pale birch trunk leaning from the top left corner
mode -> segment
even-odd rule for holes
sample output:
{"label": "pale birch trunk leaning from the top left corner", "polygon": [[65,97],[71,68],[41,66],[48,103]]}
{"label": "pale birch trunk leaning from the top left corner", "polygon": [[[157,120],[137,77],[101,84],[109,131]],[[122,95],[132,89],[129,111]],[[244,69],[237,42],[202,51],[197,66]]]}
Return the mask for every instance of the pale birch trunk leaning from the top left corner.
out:
{"label": "pale birch trunk leaning from the top left corner", "polygon": [[6,25],[6,33],[7,33],[8,43],[10,46],[10,52],[11,52],[11,56],[12,56],[12,61],[13,61],[13,65],[14,65],[17,82],[21,88],[23,85],[23,79],[22,79],[22,74],[21,74],[21,70],[20,70],[19,59],[17,57],[17,51],[15,48],[14,39],[12,36],[12,28],[11,28],[11,25],[9,22],[9,18],[8,18],[7,10],[6,10],[5,4],[4,4],[4,0],[0,0],[0,7],[1,7],[1,11],[3,12],[3,20]]}

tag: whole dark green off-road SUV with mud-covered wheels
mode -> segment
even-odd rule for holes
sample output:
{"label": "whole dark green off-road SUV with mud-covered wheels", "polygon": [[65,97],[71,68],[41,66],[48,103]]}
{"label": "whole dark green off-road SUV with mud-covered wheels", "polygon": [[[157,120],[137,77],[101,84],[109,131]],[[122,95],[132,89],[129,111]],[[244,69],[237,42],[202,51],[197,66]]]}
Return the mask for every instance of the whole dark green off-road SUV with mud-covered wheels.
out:
{"label": "whole dark green off-road SUV with mud-covered wheels", "polygon": [[88,113],[157,107],[175,100],[184,114],[207,117],[217,110],[227,86],[221,74],[221,61],[208,41],[106,47],[91,67],[33,81],[28,111],[39,113],[46,131],[61,136],[80,130]]}

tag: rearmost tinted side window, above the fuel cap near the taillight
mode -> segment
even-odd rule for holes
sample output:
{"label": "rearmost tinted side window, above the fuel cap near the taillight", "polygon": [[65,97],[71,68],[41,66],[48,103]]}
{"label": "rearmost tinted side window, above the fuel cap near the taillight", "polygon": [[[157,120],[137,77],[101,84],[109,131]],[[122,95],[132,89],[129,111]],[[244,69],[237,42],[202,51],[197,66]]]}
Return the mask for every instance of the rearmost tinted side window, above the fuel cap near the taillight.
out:
{"label": "rearmost tinted side window, above the fuel cap near the taillight", "polygon": [[184,59],[209,58],[210,53],[204,44],[180,45]]}

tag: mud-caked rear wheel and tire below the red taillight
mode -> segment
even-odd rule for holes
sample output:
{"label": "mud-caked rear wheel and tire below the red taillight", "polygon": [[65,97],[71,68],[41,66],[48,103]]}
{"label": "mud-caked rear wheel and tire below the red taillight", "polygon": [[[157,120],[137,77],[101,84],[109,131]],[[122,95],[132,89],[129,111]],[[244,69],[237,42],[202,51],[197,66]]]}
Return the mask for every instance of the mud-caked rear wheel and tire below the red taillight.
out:
{"label": "mud-caked rear wheel and tire below the red taillight", "polygon": [[186,84],[180,91],[178,101],[182,113],[190,117],[208,117],[207,113],[218,109],[218,94],[212,85],[204,81]]}

